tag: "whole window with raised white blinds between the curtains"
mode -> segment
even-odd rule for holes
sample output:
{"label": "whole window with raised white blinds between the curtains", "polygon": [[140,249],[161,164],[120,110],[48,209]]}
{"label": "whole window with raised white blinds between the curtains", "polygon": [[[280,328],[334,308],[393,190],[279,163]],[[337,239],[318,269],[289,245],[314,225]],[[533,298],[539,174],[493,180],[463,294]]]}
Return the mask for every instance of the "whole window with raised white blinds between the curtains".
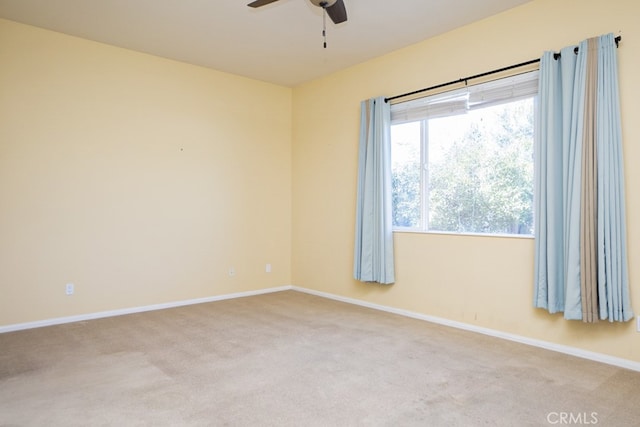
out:
{"label": "whole window with raised white blinds between the curtains", "polygon": [[533,234],[537,74],[391,107],[396,230]]}

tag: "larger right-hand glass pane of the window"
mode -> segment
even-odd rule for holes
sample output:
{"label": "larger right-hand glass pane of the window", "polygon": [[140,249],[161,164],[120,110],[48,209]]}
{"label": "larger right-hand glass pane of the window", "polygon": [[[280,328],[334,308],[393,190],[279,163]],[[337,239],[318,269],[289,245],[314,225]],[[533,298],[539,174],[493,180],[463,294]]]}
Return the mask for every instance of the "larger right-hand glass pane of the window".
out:
{"label": "larger right-hand glass pane of the window", "polygon": [[533,233],[533,98],[429,120],[428,229]]}

